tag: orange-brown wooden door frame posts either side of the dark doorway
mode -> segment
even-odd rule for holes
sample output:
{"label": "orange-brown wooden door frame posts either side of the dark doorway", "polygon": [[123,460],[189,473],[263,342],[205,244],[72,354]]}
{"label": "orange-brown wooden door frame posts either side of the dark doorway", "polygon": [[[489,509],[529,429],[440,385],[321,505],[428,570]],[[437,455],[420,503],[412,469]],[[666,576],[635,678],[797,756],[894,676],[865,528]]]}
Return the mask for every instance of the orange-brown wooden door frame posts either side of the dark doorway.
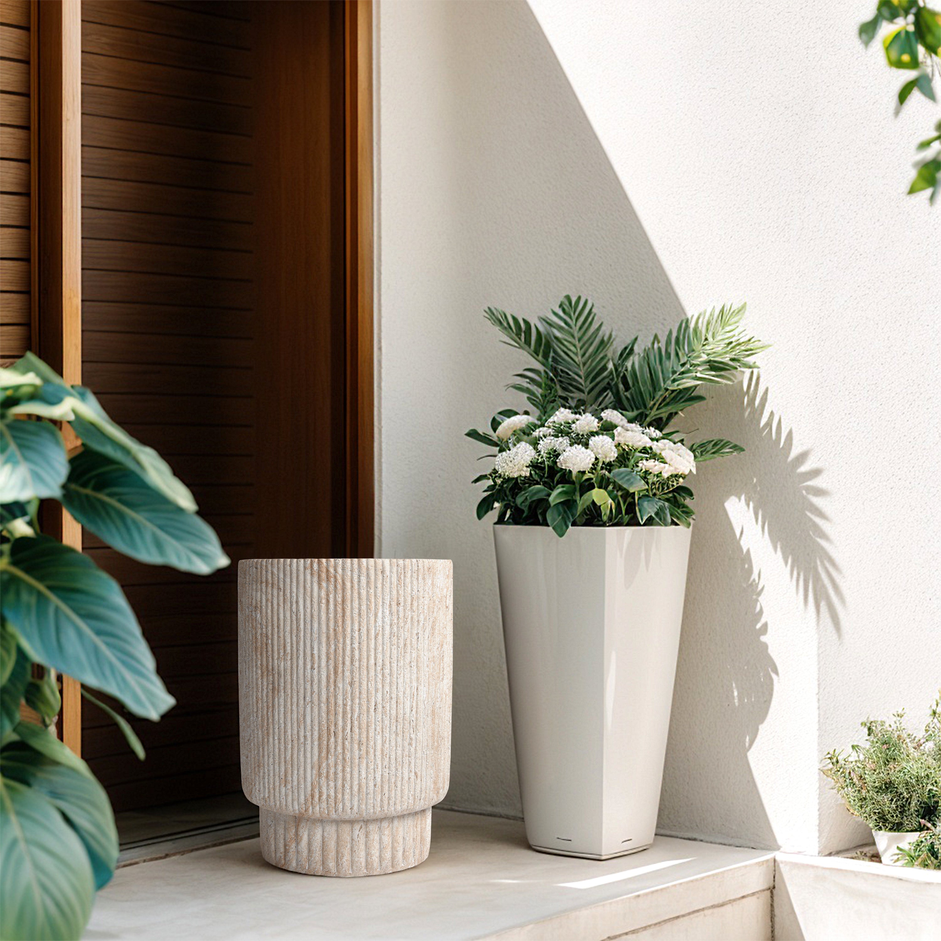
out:
{"label": "orange-brown wooden door frame posts either side of the dark doorway", "polygon": [[[312,2],[312,0],[311,0]],[[346,220],[346,553],[375,554],[373,3],[343,0]],[[34,120],[31,345],[67,382],[82,381],[81,0],[31,0]],[[63,428],[68,447],[78,442]],[[82,549],[57,506],[46,531]],[[82,750],[80,685],[62,678],[61,737]]]}

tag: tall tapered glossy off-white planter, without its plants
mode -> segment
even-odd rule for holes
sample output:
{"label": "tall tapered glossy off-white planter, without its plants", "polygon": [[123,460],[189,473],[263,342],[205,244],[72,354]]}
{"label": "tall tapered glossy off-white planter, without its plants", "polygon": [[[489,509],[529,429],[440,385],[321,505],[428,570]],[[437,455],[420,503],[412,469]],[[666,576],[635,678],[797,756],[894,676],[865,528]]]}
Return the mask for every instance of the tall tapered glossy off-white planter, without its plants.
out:
{"label": "tall tapered glossy off-white planter, without its plants", "polygon": [[526,837],[606,859],[653,840],[690,531],[494,526]]}

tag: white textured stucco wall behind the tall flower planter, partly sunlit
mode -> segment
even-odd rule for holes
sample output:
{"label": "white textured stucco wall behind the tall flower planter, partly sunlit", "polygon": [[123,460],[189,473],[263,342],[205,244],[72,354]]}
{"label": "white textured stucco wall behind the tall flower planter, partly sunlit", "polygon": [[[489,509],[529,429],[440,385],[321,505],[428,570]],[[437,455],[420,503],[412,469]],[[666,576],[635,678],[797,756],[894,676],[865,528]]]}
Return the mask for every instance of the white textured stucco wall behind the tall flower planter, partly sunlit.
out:
{"label": "white textured stucco wall behind the tall flower planter, partly sunlit", "polygon": [[[690,415],[696,477],[661,828],[828,852],[821,754],[941,684],[936,113],[840,0],[381,4],[378,548],[455,562],[448,805],[518,813],[496,572],[462,437],[521,360],[481,317],[587,293],[620,335],[745,299],[758,383]],[[903,442],[903,443],[901,443]],[[897,467],[901,453],[910,459]]]}

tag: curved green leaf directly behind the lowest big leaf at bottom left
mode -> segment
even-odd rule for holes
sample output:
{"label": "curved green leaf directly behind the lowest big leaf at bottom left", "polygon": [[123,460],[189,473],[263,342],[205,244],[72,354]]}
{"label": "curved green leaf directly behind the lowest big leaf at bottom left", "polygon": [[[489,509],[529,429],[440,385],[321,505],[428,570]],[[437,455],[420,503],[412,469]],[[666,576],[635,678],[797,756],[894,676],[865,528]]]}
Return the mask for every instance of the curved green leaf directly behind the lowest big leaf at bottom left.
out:
{"label": "curved green leaf directly behind the lowest big leaf at bottom left", "polygon": [[[55,742],[54,749],[72,755],[62,742],[45,734]],[[118,864],[118,828],[108,796],[88,765],[82,761],[76,767],[68,758],[63,763],[26,742],[13,742],[0,753],[0,768],[5,778],[40,791],[56,806],[85,846],[95,888],[107,885]]]}

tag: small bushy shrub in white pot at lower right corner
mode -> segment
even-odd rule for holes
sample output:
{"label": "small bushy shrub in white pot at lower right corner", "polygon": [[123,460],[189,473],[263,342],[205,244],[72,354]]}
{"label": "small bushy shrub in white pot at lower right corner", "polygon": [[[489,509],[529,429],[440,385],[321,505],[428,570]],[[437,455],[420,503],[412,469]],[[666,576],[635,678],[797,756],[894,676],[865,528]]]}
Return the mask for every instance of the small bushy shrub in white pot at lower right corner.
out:
{"label": "small bushy shrub in white pot at lower right corner", "polygon": [[[821,769],[851,814],[872,830],[884,863],[898,864],[897,853],[912,849],[941,807],[941,696],[923,735],[904,725],[904,713],[890,722],[867,719],[865,745],[849,755],[833,751]],[[930,837],[929,837],[930,840]]]}

